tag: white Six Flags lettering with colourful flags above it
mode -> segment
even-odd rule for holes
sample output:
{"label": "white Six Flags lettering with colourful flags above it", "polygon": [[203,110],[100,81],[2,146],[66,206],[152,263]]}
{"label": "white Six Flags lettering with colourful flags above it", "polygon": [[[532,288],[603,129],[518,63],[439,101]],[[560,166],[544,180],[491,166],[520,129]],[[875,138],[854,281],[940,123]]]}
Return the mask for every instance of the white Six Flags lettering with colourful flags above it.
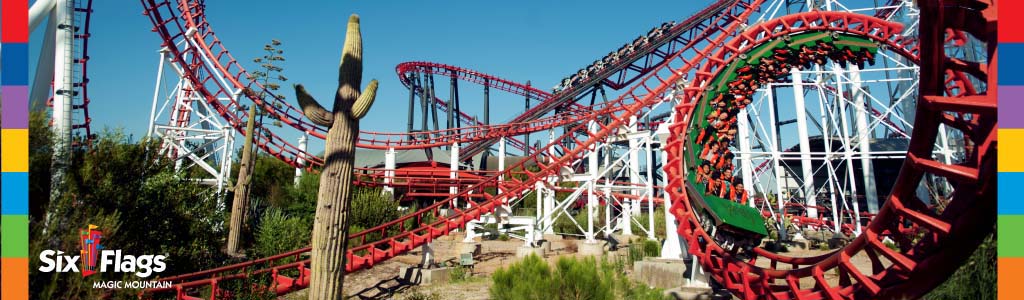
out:
{"label": "white Six Flags lettering with colourful flags above it", "polygon": [[88,276],[98,271],[104,272],[113,267],[115,272],[134,272],[139,277],[147,277],[154,272],[167,269],[163,255],[122,255],[121,250],[105,250],[99,241],[103,232],[95,230],[96,225],[89,224],[87,229],[79,231],[82,246],[80,255],[63,255],[63,251],[44,250],[39,254],[43,272],[79,272],[78,263],[82,264],[82,276]]}

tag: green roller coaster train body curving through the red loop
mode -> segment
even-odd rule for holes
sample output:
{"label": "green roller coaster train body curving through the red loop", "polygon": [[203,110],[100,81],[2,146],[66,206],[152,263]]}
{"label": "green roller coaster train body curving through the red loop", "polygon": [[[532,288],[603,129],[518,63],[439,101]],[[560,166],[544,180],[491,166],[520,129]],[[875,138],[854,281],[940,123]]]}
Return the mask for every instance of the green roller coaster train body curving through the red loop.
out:
{"label": "green roller coaster train body curving through the red loop", "polygon": [[736,59],[723,70],[708,85],[710,90],[698,103],[694,117],[691,119],[690,134],[686,139],[686,146],[690,151],[684,157],[684,164],[686,164],[684,167],[689,170],[687,173],[686,192],[693,206],[693,211],[700,221],[700,225],[727,251],[734,253],[751,251],[754,247],[759,246],[761,241],[768,235],[768,228],[759,210],[728,199],[707,195],[707,186],[705,184],[695,184],[697,182],[696,172],[693,171],[701,161],[696,158],[695,154],[703,151],[702,145],[697,144],[695,139],[699,130],[709,126],[707,117],[713,112],[709,100],[719,94],[729,92],[728,83],[737,78],[737,70],[746,66],[756,66],[761,61],[762,57],[772,55],[774,49],[800,49],[802,46],[814,45],[819,41],[829,43],[839,49],[850,49],[853,51],[866,50],[877,53],[879,49],[878,44],[870,40],[829,32],[807,32],[772,40],[746,51],[738,57],[740,59]]}

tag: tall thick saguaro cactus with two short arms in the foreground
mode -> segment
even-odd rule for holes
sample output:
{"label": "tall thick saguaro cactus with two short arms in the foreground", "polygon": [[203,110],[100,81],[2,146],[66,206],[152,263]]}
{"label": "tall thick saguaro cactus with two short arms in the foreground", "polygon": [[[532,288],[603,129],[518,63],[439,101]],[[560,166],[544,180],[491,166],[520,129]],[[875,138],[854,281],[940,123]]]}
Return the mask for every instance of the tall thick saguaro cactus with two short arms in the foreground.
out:
{"label": "tall thick saguaro cactus with two short arms in the foreground", "polygon": [[355,159],[355,137],[359,119],[367,115],[377,95],[377,80],[370,81],[360,94],[362,81],[362,37],[359,16],[348,18],[348,32],[338,67],[338,91],[334,110],[325,110],[302,85],[295,86],[295,95],[306,118],[313,123],[330,126],[324,172],[321,174],[313,222],[309,299],[341,299],[345,277],[345,247],[348,244],[348,211],[351,202],[352,162]]}

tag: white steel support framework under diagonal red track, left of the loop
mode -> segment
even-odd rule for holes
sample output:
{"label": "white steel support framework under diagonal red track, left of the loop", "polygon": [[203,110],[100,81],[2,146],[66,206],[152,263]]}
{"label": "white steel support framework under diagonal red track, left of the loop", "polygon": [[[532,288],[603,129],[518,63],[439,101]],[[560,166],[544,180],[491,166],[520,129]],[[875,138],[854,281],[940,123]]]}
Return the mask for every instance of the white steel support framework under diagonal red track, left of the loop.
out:
{"label": "white steel support framework under diagonal red track, left of the loop", "polygon": [[[668,102],[671,96],[665,97],[658,103]],[[656,108],[657,104],[651,111]],[[646,114],[649,113],[646,112]],[[658,133],[660,136],[655,136],[655,132],[650,130],[639,130],[636,120],[644,117],[646,115],[634,118],[631,122],[633,126],[617,128],[617,134],[590,145],[580,161],[570,162],[567,167],[556,174],[550,174],[548,178],[535,184],[532,186],[535,195],[529,197],[531,197],[530,200],[536,201],[536,211],[529,217],[509,217],[508,220],[513,227],[506,233],[514,239],[522,239],[530,247],[536,247],[537,243],[534,242],[543,239],[544,234],[552,233],[583,233],[582,235],[588,244],[597,243],[599,232],[603,232],[604,238],[608,238],[615,232],[632,233],[628,231],[630,229],[641,229],[647,239],[656,239],[654,205],[659,201],[656,199],[654,186],[656,165],[654,151],[660,151],[657,141],[666,139],[664,135],[668,134],[668,127],[662,125]],[[595,121],[587,125],[587,129],[592,132],[598,131],[599,128],[600,126]],[[554,130],[549,130],[548,133],[548,142],[557,142]],[[499,170],[504,170],[504,142],[498,144],[498,153]],[[550,158],[558,156],[554,151],[543,155]],[[660,159],[663,162],[667,160],[664,155]],[[641,164],[641,161],[644,163]],[[572,191],[565,197],[556,198],[556,192],[563,189],[571,189]],[[586,200],[583,197],[586,197]],[[605,206],[604,222],[600,222],[602,217],[600,214],[601,200],[604,200],[603,205]],[[523,199],[512,200],[509,205],[523,202]],[[643,217],[644,213],[641,207],[645,202],[650,205],[645,210],[646,219],[641,222],[640,217]],[[580,203],[586,204],[583,207],[577,207]],[[660,203],[671,202],[663,200]],[[577,211],[578,208],[579,211]],[[674,232],[672,229],[676,225],[674,216],[669,214],[667,209],[665,213],[670,220],[667,224],[669,226],[666,228],[667,232]],[[586,214],[587,220],[577,222],[573,214]],[[554,226],[556,220],[563,217],[571,221],[579,231],[556,232]],[[484,215],[480,221],[474,221],[474,224],[490,222],[492,218],[494,217]],[[532,222],[527,222],[524,218],[529,218]],[[523,226],[527,223],[529,226]],[[516,230],[524,230],[525,232],[523,235],[513,234],[512,232]],[[467,237],[466,241],[469,239]],[[683,252],[679,246],[678,237],[669,233],[668,239],[676,246],[669,247],[665,253],[672,255],[675,252],[676,257],[682,257]]]}

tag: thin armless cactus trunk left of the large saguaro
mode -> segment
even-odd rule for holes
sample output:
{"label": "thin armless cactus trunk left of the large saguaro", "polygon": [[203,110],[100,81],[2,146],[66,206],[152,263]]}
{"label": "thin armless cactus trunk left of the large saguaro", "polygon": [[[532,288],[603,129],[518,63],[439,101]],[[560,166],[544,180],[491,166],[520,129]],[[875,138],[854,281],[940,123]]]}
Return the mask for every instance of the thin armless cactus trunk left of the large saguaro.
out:
{"label": "thin armless cactus trunk left of the large saguaro", "polygon": [[246,205],[249,204],[249,180],[252,174],[253,132],[256,127],[256,104],[249,108],[249,121],[246,122],[246,142],[242,146],[242,164],[239,166],[239,179],[234,184],[234,200],[231,201],[231,222],[227,227],[227,255],[240,256],[239,246],[242,243],[242,223],[245,220]]}

